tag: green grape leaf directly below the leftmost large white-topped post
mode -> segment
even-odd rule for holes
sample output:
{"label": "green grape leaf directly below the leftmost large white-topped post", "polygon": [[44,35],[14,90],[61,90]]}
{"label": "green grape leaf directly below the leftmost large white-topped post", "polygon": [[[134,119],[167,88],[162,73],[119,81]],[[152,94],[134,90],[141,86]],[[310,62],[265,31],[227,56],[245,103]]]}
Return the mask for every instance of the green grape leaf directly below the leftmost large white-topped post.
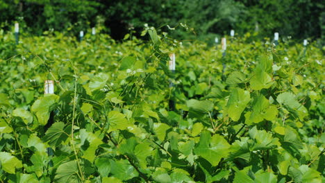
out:
{"label": "green grape leaf directly below the leftmost large white-topped post", "polygon": [[49,121],[50,112],[58,105],[59,96],[55,94],[44,94],[43,97],[38,98],[31,107],[31,111],[38,117],[40,125],[46,125]]}

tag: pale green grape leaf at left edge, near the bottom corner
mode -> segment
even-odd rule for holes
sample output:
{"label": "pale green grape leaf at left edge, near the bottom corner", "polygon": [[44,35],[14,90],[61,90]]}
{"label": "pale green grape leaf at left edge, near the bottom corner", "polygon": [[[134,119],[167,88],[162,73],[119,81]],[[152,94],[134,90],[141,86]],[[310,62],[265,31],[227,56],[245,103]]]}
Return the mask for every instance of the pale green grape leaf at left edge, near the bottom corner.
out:
{"label": "pale green grape leaf at left edge, near the bottom corner", "polygon": [[22,161],[10,153],[0,152],[1,169],[7,173],[15,173],[16,168],[22,168]]}

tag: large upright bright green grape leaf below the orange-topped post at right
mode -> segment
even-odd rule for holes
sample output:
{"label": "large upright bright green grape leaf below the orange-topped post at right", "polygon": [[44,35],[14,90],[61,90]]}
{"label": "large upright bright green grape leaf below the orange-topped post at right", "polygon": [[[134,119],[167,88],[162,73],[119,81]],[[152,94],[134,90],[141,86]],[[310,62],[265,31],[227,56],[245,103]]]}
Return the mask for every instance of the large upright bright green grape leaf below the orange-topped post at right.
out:
{"label": "large upright bright green grape leaf below the orange-topped post at right", "polygon": [[233,121],[238,121],[249,101],[251,101],[251,98],[248,91],[235,88],[231,92],[228,103],[224,110]]}

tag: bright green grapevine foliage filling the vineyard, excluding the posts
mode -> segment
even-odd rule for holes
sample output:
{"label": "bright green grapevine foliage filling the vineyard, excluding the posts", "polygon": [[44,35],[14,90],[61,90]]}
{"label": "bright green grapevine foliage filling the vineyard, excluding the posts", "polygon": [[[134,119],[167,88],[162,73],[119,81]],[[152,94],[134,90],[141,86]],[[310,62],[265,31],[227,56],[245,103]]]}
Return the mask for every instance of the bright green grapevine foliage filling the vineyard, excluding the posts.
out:
{"label": "bright green grapevine foliage filling the vineyard, excluding the posts", "polygon": [[246,35],[222,58],[219,45],[144,33],[150,42],[55,32],[15,45],[0,31],[1,182],[324,182],[314,43]]}

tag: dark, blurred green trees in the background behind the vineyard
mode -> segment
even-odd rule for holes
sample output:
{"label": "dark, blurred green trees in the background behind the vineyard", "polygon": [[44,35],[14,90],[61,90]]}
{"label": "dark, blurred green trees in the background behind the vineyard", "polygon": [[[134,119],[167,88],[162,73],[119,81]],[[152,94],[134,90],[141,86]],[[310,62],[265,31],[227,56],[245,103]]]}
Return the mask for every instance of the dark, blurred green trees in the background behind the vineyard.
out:
{"label": "dark, blurred green trees in the background behind the vineyard", "polygon": [[19,21],[26,24],[25,31],[37,35],[51,28],[76,34],[99,21],[119,40],[144,24],[193,28],[190,33],[176,29],[173,34],[179,39],[228,35],[231,28],[243,35],[257,27],[261,38],[274,32],[297,39],[325,34],[324,2],[319,0],[0,0],[0,12],[3,27]]}

